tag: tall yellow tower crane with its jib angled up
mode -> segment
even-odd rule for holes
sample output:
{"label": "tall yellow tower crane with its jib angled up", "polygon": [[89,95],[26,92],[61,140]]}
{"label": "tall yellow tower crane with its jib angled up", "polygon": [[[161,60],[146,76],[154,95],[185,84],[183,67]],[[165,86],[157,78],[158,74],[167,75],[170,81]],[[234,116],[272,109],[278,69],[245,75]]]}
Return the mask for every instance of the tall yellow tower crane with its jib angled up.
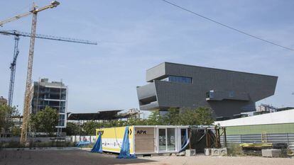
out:
{"label": "tall yellow tower crane with its jib angled up", "polygon": [[28,52],[28,71],[26,74],[26,93],[25,93],[25,101],[23,106],[23,125],[21,127],[21,143],[26,143],[26,137],[28,132],[28,120],[30,115],[30,105],[31,105],[31,93],[32,93],[32,69],[33,69],[33,50],[35,47],[35,38],[36,38],[36,26],[37,26],[37,14],[40,11],[44,11],[48,8],[55,8],[60,3],[58,1],[52,1],[50,5],[44,6],[41,8],[38,8],[35,4],[33,4],[33,8],[31,11],[28,11],[27,13],[20,14],[18,16],[13,16],[11,18],[8,18],[4,21],[0,21],[0,26],[3,26],[4,23],[9,23],[11,21],[15,21],[19,18],[22,18],[24,16],[28,16],[30,14],[33,14],[33,20],[32,20],[32,27],[31,27],[31,40],[30,40],[30,50]]}

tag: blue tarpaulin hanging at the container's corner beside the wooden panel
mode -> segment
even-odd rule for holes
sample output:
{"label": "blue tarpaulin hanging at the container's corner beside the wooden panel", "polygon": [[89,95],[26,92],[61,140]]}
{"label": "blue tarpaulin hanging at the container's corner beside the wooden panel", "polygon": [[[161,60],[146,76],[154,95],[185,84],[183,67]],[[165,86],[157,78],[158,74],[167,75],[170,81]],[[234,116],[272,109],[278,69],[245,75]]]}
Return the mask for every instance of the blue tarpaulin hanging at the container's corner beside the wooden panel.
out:
{"label": "blue tarpaulin hanging at the container's corner beside the wooden panel", "polygon": [[121,152],[119,152],[119,159],[134,159],[136,155],[130,154],[130,142],[129,142],[129,126],[126,126],[124,130],[124,140],[121,145]]}

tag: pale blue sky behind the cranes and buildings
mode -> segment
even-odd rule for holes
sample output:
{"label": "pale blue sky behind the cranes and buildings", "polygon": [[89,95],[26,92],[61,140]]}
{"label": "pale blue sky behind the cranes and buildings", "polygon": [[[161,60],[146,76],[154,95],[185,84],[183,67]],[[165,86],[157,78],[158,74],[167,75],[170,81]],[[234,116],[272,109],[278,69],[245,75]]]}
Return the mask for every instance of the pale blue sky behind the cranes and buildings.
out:
{"label": "pale blue sky behind the cranes and buildings", "polygon": [[[294,1],[170,0],[258,37],[294,48]],[[0,1],[0,20],[28,11],[32,1]],[[38,0],[38,6],[50,1]],[[31,31],[31,16],[1,30]],[[160,0],[60,1],[38,14],[37,33],[94,40],[81,45],[36,39],[33,81],[63,79],[68,110],[138,108],[136,86],[160,62],[278,76],[275,96],[259,103],[294,106],[294,52],[180,11]],[[13,105],[22,111],[29,38],[21,38]],[[0,35],[0,96],[9,90],[13,37]]]}

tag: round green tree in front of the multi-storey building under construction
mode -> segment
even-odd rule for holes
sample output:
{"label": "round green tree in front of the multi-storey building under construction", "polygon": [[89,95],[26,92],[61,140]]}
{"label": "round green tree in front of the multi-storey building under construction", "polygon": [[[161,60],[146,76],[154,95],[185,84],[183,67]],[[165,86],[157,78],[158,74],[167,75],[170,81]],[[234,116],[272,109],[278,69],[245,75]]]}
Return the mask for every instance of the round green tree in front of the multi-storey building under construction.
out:
{"label": "round green tree in front of the multi-storey building under construction", "polygon": [[33,130],[52,135],[55,126],[58,125],[58,112],[46,106],[44,110],[40,110],[38,113],[31,115],[30,123]]}

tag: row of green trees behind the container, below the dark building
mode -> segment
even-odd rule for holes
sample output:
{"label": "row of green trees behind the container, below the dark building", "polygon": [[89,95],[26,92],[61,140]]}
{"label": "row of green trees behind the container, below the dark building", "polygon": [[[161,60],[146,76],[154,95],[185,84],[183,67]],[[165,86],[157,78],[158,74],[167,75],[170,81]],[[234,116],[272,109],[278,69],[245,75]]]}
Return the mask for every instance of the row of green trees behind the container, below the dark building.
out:
{"label": "row of green trees behind the container, below the dark building", "polygon": [[[96,129],[101,127],[122,127],[126,125],[211,125],[213,122],[212,110],[209,108],[200,107],[185,110],[170,108],[168,113],[163,116],[160,115],[159,110],[154,110],[148,119],[129,118],[128,120],[110,120],[104,123],[89,121],[82,125],[80,135],[95,135]],[[67,124],[68,129],[76,127],[71,125],[73,124]]]}

